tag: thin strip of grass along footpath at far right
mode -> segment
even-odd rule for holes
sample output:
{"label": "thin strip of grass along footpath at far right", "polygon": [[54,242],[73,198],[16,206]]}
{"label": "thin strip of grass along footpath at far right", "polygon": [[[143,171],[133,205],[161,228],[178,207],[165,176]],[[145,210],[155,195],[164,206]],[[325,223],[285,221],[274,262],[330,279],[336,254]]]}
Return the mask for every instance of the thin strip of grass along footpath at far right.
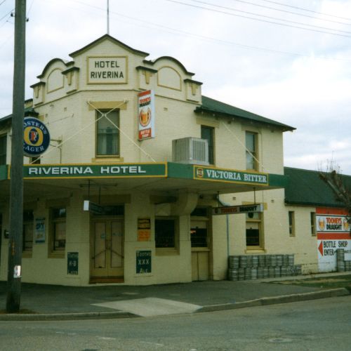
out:
{"label": "thin strip of grass along footpath at far right", "polygon": [[336,277],[315,277],[308,279],[284,280],[272,282],[273,284],[291,284],[299,286],[310,286],[313,288],[336,289],[346,288],[351,292],[351,274]]}

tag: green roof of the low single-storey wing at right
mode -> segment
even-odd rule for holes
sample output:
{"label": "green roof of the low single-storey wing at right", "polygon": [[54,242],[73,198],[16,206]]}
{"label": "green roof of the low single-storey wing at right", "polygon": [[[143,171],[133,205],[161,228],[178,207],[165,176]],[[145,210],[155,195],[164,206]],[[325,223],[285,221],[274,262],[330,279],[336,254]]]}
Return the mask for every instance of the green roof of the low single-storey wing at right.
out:
{"label": "green roof of the low single-storey wing at right", "polygon": [[[291,205],[344,207],[333,191],[319,177],[319,171],[284,167],[289,183],[285,186],[285,203]],[[341,176],[345,187],[351,189],[351,176]]]}

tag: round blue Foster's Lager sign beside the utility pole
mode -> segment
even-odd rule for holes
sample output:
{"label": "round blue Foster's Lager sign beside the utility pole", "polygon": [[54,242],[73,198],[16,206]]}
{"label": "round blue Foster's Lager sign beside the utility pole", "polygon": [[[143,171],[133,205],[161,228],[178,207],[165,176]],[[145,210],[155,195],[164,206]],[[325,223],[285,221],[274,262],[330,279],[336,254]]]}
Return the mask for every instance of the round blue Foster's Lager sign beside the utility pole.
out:
{"label": "round blue Foster's Lager sign beside the utility pole", "polygon": [[37,157],[47,150],[50,134],[43,122],[34,117],[25,117],[23,129],[23,153],[26,156]]}

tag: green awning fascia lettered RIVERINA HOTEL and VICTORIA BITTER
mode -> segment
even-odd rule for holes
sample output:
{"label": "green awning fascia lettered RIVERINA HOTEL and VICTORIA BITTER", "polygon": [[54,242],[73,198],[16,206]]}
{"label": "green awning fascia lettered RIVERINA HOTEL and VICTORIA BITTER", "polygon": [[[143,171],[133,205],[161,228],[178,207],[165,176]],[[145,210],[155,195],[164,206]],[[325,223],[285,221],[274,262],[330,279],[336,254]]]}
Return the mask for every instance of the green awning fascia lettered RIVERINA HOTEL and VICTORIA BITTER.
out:
{"label": "green awning fascia lettered RIVERINA HOTEL and VICTORIA BITTER", "polygon": [[[225,168],[153,162],[137,164],[26,164],[24,179],[178,178],[237,185],[282,187],[284,176]],[[270,181],[270,178],[272,181]],[[11,166],[0,166],[0,180],[11,178]],[[283,183],[282,183],[283,182]]]}

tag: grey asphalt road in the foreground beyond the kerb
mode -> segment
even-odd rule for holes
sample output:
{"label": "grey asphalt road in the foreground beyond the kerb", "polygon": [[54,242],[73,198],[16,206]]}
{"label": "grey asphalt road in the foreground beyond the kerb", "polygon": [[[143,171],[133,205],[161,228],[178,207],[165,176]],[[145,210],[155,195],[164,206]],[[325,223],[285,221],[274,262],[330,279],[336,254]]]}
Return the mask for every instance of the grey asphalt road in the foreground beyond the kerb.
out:
{"label": "grey asphalt road in the foreground beyond the kerb", "polygon": [[351,297],[173,316],[0,322],[7,350],[351,350]]}

